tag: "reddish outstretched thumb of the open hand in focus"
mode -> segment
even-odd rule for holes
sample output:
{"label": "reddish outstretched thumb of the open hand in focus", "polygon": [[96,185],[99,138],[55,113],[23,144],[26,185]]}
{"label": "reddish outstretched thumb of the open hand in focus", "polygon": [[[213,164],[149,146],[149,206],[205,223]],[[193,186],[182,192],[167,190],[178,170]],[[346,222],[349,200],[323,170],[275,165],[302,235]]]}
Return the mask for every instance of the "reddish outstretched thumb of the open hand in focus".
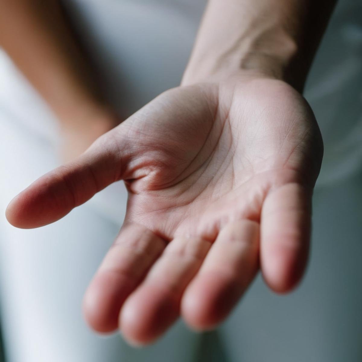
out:
{"label": "reddish outstretched thumb of the open hand in focus", "polygon": [[59,220],[98,191],[122,179],[129,156],[121,132],[98,138],[76,160],[48,172],[18,194],[6,218],[19,228],[35,228]]}

